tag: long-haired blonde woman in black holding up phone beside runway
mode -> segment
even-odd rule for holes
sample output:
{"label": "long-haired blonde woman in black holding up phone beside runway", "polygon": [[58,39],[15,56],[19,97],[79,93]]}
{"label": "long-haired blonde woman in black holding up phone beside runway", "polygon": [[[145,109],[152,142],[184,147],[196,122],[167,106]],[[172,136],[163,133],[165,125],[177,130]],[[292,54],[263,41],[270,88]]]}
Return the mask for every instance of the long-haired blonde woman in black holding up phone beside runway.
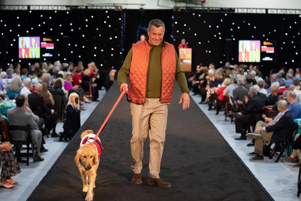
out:
{"label": "long-haired blonde woman in black holding up phone beside runway", "polygon": [[64,133],[61,134],[60,140],[72,138],[81,127],[81,113],[79,106],[79,96],[77,93],[69,95],[69,101],[66,107],[66,120],[64,121]]}

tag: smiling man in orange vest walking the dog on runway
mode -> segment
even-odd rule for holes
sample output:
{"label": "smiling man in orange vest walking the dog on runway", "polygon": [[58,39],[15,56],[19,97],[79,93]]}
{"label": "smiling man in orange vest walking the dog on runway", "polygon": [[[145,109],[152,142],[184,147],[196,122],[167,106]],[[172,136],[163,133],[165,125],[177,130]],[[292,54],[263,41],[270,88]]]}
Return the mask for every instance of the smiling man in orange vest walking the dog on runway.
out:
{"label": "smiling man in orange vest walking the dog on runway", "polygon": [[133,44],[118,72],[118,84],[121,91],[123,88],[129,90],[132,97],[131,181],[142,183],[143,144],[149,128],[150,163],[146,183],[171,187],[159,177],[167,107],[171,102],[175,78],[182,91],[179,104],[183,102],[183,110],[189,108],[189,89],[174,46],[163,40],[164,32],[165,25],[160,19],[150,21],[147,29],[149,36],[145,41]]}

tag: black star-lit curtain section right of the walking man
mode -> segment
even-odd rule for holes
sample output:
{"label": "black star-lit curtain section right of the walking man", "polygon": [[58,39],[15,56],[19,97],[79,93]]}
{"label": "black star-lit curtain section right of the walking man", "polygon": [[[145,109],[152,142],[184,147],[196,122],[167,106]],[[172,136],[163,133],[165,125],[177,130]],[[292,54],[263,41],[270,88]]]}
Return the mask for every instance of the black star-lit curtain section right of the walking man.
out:
{"label": "black star-lit curtain section right of the walking man", "polygon": [[223,66],[227,61],[226,39],[232,39],[231,64],[239,64],[239,40],[265,40],[277,41],[276,62],[257,63],[266,76],[270,68],[301,67],[301,15],[174,12],[172,19],[174,45],[186,39],[193,51],[194,69],[198,63]]}

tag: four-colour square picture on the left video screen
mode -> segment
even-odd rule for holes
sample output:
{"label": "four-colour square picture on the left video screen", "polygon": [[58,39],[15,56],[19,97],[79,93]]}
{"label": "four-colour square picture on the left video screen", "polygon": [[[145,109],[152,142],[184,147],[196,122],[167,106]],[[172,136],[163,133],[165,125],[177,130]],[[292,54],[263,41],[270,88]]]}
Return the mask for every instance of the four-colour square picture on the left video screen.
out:
{"label": "four-colour square picture on the left video screen", "polygon": [[19,37],[19,58],[40,58],[40,37]]}

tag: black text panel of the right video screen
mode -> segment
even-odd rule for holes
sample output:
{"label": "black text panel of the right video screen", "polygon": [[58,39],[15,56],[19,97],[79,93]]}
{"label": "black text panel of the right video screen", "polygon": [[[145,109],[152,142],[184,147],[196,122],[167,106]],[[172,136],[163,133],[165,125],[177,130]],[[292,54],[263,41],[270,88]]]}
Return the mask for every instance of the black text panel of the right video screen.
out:
{"label": "black text panel of the right video screen", "polygon": [[276,41],[262,41],[261,43],[261,61],[276,62]]}

